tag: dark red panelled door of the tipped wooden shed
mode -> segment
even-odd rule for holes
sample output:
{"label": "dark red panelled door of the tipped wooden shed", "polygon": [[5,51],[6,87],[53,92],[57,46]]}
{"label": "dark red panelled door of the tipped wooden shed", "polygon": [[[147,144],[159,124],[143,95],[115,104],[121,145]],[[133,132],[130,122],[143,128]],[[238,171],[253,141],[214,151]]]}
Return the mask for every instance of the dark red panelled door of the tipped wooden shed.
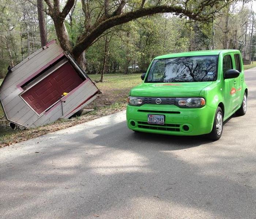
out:
{"label": "dark red panelled door of the tipped wooden shed", "polygon": [[82,82],[82,78],[67,62],[21,96],[35,112],[41,114],[56,103],[64,92],[72,91]]}

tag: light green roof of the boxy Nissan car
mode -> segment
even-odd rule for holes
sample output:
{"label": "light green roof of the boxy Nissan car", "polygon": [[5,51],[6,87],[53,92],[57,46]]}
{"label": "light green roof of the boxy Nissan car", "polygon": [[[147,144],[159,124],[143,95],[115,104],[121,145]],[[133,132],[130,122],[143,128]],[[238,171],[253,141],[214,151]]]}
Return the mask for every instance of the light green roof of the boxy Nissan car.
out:
{"label": "light green roof of the boxy Nissan car", "polygon": [[221,50],[201,50],[201,51],[190,51],[190,52],[183,52],[183,53],[170,53],[166,55],[159,55],[154,59],[162,59],[162,58],[173,58],[173,57],[184,57],[184,56],[197,56],[197,55],[219,55],[225,53],[234,53],[240,52],[239,50],[235,49],[221,49]]}

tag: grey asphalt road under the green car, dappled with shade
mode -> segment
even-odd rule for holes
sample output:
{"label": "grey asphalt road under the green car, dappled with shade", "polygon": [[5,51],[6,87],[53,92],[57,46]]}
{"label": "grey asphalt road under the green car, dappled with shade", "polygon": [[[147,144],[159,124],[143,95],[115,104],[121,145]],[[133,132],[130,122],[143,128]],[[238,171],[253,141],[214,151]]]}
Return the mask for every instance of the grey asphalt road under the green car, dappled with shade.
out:
{"label": "grey asphalt road under the green car, dappled with shade", "polygon": [[222,138],[137,134],[125,112],[0,150],[4,218],[256,218],[256,68]]}

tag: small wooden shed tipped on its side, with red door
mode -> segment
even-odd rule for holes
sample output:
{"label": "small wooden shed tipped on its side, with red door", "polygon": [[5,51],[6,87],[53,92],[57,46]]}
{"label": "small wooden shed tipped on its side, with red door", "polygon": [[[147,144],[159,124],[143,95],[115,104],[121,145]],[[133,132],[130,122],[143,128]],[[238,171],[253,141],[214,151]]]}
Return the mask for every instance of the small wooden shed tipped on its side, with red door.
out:
{"label": "small wooden shed tipped on its side, with red door", "polygon": [[7,120],[26,128],[69,118],[100,93],[55,40],[8,70],[1,105]]}

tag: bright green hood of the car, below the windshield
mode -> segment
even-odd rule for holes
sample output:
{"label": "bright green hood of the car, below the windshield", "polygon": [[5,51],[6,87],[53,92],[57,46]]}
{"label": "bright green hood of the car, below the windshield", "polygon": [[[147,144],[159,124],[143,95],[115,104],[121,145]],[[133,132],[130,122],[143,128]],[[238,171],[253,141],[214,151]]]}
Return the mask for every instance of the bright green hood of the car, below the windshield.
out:
{"label": "bright green hood of the car, below the windshield", "polygon": [[212,84],[206,82],[142,83],[130,95],[140,97],[197,97],[202,89]]}

